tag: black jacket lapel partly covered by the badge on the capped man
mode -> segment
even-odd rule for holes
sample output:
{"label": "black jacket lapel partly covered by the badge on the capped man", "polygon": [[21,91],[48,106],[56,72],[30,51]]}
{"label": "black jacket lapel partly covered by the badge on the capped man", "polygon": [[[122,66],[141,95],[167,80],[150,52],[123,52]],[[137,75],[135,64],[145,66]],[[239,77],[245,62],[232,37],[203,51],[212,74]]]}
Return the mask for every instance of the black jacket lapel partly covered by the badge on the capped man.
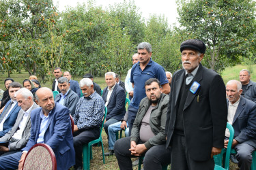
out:
{"label": "black jacket lapel partly covered by the badge on the capped man", "polygon": [[[202,80],[202,75],[203,75],[202,69],[203,69],[203,67],[200,63],[199,68],[197,70],[197,74],[195,75],[195,78],[193,79],[193,82],[198,82],[200,84],[200,82]],[[192,82],[192,84],[193,84],[193,82]],[[199,92],[199,89],[197,90],[197,92],[195,94],[188,91],[188,96],[186,97],[186,102],[185,102],[183,110],[186,109],[186,107],[188,107],[190,105],[190,103],[193,101],[193,99],[197,96],[198,92]]]}

